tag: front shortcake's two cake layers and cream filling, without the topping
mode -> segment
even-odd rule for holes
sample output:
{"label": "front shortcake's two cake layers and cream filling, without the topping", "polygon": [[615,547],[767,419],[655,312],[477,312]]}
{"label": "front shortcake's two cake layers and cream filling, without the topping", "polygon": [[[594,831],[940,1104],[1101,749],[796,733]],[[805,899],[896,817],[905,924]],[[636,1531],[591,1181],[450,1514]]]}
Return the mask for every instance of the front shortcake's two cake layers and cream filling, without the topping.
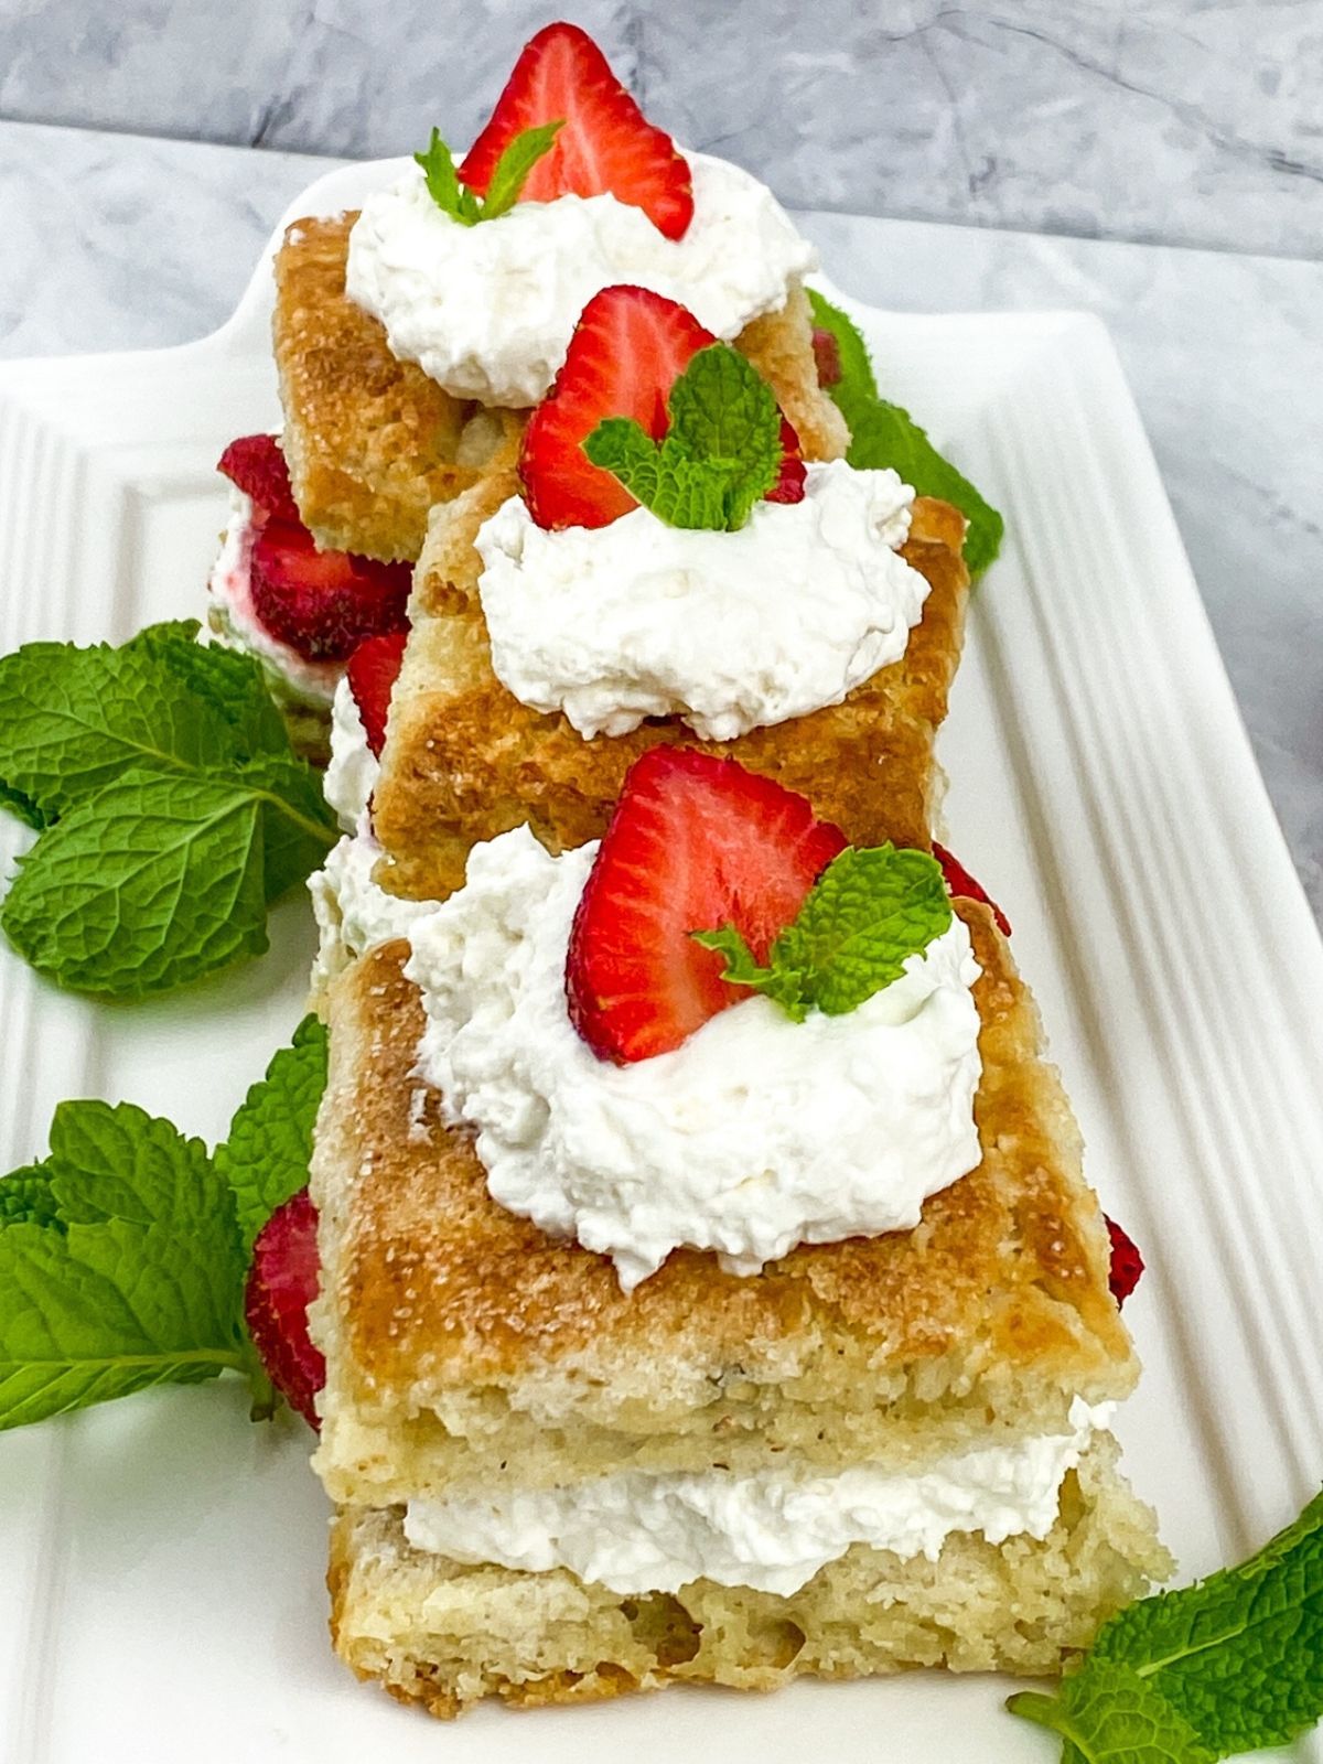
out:
{"label": "front shortcake's two cake layers and cream filling, without the topping", "polygon": [[[757,1275],[677,1249],[628,1293],[605,1254],[492,1200],[420,1076],[407,946],[337,981],[316,1468],[340,1510],[332,1632],[360,1676],[455,1715],[669,1681],[1053,1672],[1166,1572],[1108,1431],[1138,1365],[1078,1131],[993,910],[956,912],[981,968],[977,1166],[912,1230]],[[889,1510],[924,1491],[940,1535],[870,1531],[878,1485]],[[804,1501],[815,1544],[787,1565],[778,1526]],[[693,1549],[713,1566],[684,1577]]]}

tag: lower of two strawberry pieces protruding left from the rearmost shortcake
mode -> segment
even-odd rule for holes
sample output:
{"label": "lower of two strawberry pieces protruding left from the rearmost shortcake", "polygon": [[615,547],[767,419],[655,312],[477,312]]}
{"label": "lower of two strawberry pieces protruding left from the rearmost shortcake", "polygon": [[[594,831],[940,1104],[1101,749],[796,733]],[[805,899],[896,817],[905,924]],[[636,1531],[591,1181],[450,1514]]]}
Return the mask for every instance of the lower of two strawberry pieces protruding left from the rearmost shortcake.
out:
{"label": "lower of two strawberry pieces protruding left from the rearmost shortcake", "polygon": [[407,563],[325,552],[307,527],[270,520],[252,547],[252,610],[307,662],[344,662],[365,637],[407,624]]}

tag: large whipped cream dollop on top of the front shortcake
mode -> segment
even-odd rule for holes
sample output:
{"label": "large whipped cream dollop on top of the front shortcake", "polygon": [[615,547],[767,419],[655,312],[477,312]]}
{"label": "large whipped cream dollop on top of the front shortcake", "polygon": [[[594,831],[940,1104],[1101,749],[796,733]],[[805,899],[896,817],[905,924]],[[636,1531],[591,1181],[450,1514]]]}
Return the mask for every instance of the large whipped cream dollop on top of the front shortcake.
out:
{"label": "large whipped cream dollop on top of the front shortcake", "polygon": [[612,1065],[564,998],[594,854],[503,833],[409,930],[418,1069],[478,1129],[496,1201],[610,1256],[628,1291],[681,1244],[755,1274],[796,1244],[914,1226],[979,1162],[979,967],[958,917],[857,1011],[794,1023],[750,997],[672,1053]]}

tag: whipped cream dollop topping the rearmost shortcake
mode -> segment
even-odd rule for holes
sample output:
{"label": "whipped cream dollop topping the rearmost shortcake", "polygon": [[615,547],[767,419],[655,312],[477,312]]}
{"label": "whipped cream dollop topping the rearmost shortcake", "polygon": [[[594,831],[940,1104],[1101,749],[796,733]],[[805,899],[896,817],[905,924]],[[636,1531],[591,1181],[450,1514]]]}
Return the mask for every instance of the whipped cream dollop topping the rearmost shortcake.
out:
{"label": "whipped cream dollop topping the rearmost shortcake", "polygon": [[766,183],[721,159],[684,157],[693,220],[679,240],[614,196],[515,203],[499,220],[462,226],[409,166],[363,203],[349,233],[346,293],[381,319],[399,360],[483,404],[536,404],[579,314],[614,282],[679,300],[730,340],[785,305],[817,252]]}

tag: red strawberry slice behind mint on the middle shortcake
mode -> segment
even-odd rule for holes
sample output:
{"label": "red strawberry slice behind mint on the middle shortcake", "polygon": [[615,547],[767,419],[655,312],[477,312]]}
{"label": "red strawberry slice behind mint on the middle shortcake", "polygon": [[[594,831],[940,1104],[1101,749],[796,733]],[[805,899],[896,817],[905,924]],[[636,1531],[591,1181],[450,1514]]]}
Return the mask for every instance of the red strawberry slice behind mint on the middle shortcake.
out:
{"label": "red strawberry slice behind mint on the middle shortcake", "polygon": [[[564,363],[524,430],[519,475],[540,527],[605,527],[637,508],[619,478],[593,466],[584,441],[605,416],[633,416],[660,441],[670,388],[716,337],[647,288],[603,288],[579,316]],[[799,436],[781,418],[787,459],[771,499],[797,503]]]}

